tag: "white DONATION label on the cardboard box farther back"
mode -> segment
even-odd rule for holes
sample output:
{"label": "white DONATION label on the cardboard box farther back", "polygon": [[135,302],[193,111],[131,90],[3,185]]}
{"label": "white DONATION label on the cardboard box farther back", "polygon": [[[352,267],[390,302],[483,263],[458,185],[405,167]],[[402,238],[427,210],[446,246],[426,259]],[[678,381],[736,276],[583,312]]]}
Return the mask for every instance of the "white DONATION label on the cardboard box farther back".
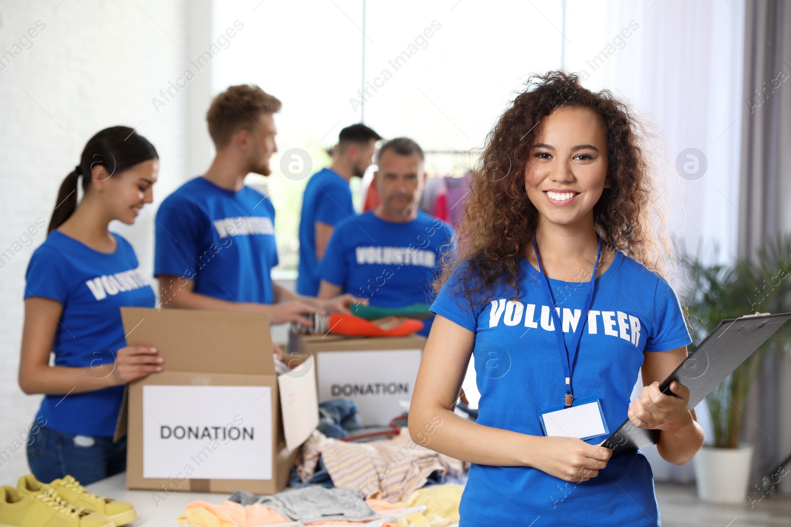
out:
{"label": "white DONATION label on the cardboard box farther back", "polygon": [[318,352],[319,401],[351,399],[360,426],[387,425],[403,414],[399,401],[411,401],[421,350]]}

